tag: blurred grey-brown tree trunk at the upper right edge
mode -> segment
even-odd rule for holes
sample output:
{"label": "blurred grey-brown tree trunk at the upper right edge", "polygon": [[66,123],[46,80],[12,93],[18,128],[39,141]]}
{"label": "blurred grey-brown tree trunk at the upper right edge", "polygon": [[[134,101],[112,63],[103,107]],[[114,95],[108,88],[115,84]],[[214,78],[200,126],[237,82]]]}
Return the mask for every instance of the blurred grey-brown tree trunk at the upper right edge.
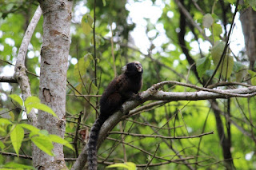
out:
{"label": "blurred grey-brown tree trunk at the upper right edge", "polygon": [[242,32],[246,43],[246,54],[250,61],[249,69],[256,71],[256,69],[254,69],[256,60],[256,11],[249,7],[240,14]]}

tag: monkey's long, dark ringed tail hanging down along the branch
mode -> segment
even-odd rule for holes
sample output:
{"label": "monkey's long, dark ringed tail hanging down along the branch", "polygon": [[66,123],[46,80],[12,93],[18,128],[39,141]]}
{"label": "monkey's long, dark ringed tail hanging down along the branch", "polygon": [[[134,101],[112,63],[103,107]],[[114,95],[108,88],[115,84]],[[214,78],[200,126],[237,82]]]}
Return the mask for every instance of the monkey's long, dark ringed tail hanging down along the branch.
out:
{"label": "monkey's long, dark ringed tail hanging down along the branch", "polygon": [[[102,115],[102,114],[101,114]],[[98,133],[102,128],[103,123],[106,121],[107,117],[98,117],[94,122],[94,125],[90,129],[90,137],[87,144],[87,162],[89,170],[97,170],[97,142]]]}

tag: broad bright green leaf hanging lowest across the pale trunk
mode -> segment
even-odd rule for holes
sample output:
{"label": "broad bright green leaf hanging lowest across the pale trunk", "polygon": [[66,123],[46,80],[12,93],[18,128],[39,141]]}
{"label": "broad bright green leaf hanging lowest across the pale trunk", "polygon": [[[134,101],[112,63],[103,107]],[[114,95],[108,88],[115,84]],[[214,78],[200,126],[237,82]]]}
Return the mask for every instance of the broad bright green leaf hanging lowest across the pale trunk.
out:
{"label": "broad bright green leaf hanging lowest across the pale trunk", "polygon": [[52,152],[54,145],[48,136],[34,136],[31,140],[43,152],[46,152],[50,156],[54,156],[54,153]]}

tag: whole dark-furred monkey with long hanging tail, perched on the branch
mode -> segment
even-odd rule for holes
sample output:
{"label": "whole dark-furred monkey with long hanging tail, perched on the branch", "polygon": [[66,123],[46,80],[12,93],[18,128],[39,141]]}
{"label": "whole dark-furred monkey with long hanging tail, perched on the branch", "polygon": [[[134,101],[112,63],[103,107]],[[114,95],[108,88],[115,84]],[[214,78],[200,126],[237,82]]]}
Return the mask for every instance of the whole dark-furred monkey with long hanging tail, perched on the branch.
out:
{"label": "whole dark-furred monkey with long hanging tail, perched on the branch", "polygon": [[130,62],[123,67],[123,73],[114,78],[102,93],[100,100],[100,115],[90,129],[90,138],[87,144],[87,162],[89,170],[97,169],[97,141],[98,133],[108,117],[128,100],[139,99],[136,95],[142,88],[142,65],[138,61]]}

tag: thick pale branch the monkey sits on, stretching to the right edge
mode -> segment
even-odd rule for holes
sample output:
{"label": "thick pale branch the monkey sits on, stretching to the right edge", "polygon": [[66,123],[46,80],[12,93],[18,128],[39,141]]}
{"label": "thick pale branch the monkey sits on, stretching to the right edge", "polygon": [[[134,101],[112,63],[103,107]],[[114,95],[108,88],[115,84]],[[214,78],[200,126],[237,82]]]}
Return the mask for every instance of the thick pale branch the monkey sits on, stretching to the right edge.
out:
{"label": "thick pale branch the monkey sits on, stretching to the right edge", "polygon": [[[194,89],[202,89],[207,91],[199,92],[163,92],[158,91],[162,85],[166,84],[175,84],[183,85]],[[138,105],[141,105],[145,101],[157,100],[157,101],[198,101],[198,100],[207,100],[207,99],[216,99],[216,98],[229,98],[229,97],[252,97],[256,95],[256,86],[241,88],[241,89],[226,89],[226,90],[216,90],[216,89],[207,89],[200,88],[195,85],[189,85],[180,83],[177,81],[162,81],[158,84],[152,85],[145,92],[141,93],[142,101],[127,101],[122,105],[123,111],[118,111],[114,113],[106,122],[102,125],[101,131],[98,137],[98,147],[102,144],[103,140],[106,139],[108,132],[115,125],[118,124],[125,116],[125,113],[134,109]],[[86,147],[82,149],[81,154],[78,156],[77,161],[71,169],[82,169],[86,164]]]}

